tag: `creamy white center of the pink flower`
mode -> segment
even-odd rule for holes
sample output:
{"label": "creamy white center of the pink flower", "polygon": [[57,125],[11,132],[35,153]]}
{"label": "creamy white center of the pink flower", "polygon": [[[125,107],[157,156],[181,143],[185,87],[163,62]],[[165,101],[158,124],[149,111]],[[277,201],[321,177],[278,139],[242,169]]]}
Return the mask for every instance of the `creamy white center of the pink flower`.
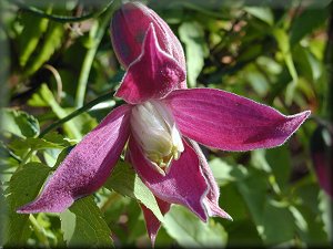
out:
{"label": "creamy white center of the pink flower", "polygon": [[172,159],[184,151],[181,135],[168,107],[159,101],[148,101],[132,108],[132,134],[154,168],[165,175]]}

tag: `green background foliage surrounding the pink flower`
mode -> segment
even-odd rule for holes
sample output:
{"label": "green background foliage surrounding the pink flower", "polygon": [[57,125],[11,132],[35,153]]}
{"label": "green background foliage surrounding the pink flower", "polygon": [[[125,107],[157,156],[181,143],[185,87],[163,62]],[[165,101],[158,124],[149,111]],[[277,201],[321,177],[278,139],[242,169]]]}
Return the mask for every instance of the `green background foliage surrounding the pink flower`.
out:
{"label": "green background foliage surrounding the pink flower", "polygon": [[[147,247],[138,201],[163,219],[158,247],[331,245],[332,198],[321,188],[327,179],[316,175],[320,167],[326,176],[332,170],[330,0],[147,1],[184,46],[189,87],[223,89],[284,114],[312,110],[281,147],[204,149],[221,187],[220,206],[233,221],[203,224],[179,206],[163,218],[121,162],[103,188],[62,214],[16,214],[120,102],[112,93],[124,71],[108,30],[119,3],[0,2],[0,247]],[[324,158],[321,165],[311,152]]]}

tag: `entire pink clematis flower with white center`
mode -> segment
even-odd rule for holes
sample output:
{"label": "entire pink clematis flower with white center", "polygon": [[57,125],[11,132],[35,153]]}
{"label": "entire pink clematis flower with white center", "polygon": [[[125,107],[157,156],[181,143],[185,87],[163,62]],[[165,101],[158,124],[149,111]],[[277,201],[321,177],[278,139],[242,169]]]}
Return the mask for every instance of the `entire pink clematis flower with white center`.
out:
{"label": "entire pink clematis flower with white center", "polygon": [[[141,3],[127,3],[111,25],[113,48],[127,70],[114,108],[70,152],[37,199],[18,212],[60,212],[99,189],[125,148],[162,214],[182,205],[206,221],[231,219],[219,207],[219,187],[198,143],[223,151],[283,144],[310,111],[285,116],[249,98],[214,89],[185,89],[180,42],[167,23]],[[161,226],[140,204],[154,242]]]}

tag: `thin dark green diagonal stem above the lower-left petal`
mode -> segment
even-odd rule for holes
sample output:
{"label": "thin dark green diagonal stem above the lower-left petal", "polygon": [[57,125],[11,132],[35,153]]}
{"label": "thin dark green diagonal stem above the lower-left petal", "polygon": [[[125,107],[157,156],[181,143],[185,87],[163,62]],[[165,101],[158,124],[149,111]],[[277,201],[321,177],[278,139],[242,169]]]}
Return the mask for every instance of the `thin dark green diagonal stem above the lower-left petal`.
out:
{"label": "thin dark green diagonal stem above the lower-left petal", "polygon": [[110,100],[110,97],[113,95],[114,93],[107,93],[102,96],[99,96],[98,98],[87,103],[84,106],[82,106],[81,108],[78,108],[77,111],[72,112],[71,114],[69,114],[68,116],[57,121],[56,123],[51,124],[50,126],[48,126],[44,131],[42,131],[39,135],[39,138],[43,137],[47,133],[49,133],[50,131],[59,127],[60,125],[62,125],[63,123],[72,120],[73,117],[80,115],[81,113],[90,110],[92,106],[101,103],[101,102],[104,102],[107,100]]}

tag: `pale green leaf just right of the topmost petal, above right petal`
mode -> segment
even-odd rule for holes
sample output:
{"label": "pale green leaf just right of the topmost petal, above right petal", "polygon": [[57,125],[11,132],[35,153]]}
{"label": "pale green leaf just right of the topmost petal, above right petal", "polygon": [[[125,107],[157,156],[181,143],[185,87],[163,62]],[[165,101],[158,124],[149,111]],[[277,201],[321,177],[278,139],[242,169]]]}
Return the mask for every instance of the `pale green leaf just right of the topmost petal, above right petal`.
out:
{"label": "pale green leaf just right of the topmost petal, above right petal", "polygon": [[204,42],[203,28],[198,22],[183,22],[179,28],[181,41],[185,44],[189,84],[196,85],[196,77],[204,65],[208,56],[208,48]]}

